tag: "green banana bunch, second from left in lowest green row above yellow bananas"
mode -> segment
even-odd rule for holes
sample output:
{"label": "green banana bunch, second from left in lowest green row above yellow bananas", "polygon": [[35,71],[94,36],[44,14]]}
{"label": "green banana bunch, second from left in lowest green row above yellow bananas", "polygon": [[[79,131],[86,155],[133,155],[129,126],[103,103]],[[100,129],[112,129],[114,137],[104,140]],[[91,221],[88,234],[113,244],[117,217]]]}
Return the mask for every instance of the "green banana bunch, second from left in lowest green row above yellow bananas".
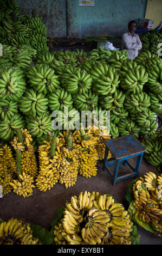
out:
{"label": "green banana bunch, second from left in lowest green row above yellow bananas", "polygon": [[53,132],[51,114],[41,114],[39,117],[25,116],[27,123],[27,129],[31,136],[41,138],[43,135],[47,135],[49,131]]}

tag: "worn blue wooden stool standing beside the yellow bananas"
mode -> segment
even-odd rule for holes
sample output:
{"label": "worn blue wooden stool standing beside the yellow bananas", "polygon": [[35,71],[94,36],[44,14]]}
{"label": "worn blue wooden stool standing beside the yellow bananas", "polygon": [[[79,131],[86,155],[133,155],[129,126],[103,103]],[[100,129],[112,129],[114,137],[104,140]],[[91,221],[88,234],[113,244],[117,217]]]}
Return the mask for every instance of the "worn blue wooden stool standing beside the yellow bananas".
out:
{"label": "worn blue wooden stool standing beside the yellow bananas", "polygon": [[[108,139],[105,141],[105,144],[106,148],[103,161],[103,170],[105,170],[106,168],[109,175],[111,175],[113,179],[113,186],[115,185],[116,181],[124,180],[138,175],[144,151],[146,151],[147,149],[138,141],[137,138],[135,138],[133,135],[126,135],[114,139]],[[107,161],[108,151],[111,151],[113,155],[113,160]],[[135,168],[133,168],[131,164],[127,161],[134,156],[138,156]],[[124,166],[128,164],[128,166],[133,170],[134,173],[122,175],[117,178],[119,164],[121,162],[124,163]],[[110,166],[111,164],[115,164],[113,172],[112,170],[108,169],[108,166]]]}

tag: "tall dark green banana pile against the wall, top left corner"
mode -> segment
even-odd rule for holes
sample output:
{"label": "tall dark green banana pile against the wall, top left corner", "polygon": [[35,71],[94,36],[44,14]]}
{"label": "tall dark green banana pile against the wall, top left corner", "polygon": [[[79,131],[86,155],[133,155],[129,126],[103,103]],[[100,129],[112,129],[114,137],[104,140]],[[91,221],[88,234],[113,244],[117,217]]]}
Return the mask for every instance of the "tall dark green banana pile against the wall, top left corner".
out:
{"label": "tall dark green banana pile against the wall, top left corner", "polygon": [[32,46],[40,53],[48,52],[47,28],[38,14],[30,17],[21,14],[20,5],[15,1],[1,1],[0,35],[7,45]]}

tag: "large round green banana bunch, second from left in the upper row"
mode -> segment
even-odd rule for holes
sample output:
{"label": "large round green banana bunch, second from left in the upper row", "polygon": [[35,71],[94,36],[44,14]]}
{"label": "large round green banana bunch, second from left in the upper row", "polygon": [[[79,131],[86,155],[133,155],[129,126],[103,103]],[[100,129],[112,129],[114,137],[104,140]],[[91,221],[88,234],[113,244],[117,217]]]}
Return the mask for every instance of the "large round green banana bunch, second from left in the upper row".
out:
{"label": "large round green banana bunch, second from left in the upper row", "polygon": [[59,76],[55,75],[55,70],[45,64],[35,64],[27,72],[27,83],[38,93],[46,95],[48,92],[56,92],[60,88]]}

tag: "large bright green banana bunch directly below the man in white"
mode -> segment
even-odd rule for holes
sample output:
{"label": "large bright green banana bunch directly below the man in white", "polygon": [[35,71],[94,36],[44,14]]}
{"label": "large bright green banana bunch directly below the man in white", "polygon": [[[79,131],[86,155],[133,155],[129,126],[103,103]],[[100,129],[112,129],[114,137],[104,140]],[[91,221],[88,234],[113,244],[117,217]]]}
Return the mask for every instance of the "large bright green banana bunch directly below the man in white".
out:
{"label": "large bright green banana bunch directly below the man in white", "polygon": [[[125,66],[126,68],[126,66]],[[142,92],[144,84],[148,81],[148,74],[144,66],[138,65],[137,68],[120,72],[121,88],[126,94],[139,94]]]}

